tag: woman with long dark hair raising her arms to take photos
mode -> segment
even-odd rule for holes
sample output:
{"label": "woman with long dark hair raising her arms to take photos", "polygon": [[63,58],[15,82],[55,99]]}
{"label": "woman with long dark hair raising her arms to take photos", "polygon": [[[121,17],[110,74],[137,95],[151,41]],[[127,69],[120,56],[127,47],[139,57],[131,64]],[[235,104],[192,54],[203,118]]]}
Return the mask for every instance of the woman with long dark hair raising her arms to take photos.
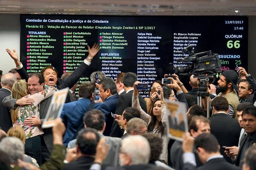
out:
{"label": "woman with long dark hair raising her arms to take photos", "polygon": [[[134,95],[132,97],[132,107],[138,109],[141,113],[141,119],[148,123],[148,132],[157,133],[163,139],[163,150],[160,155],[160,160],[164,163],[168,163],[168,150],[167,146],[169,143],[169,139],[166,133],[166,124],[167,124],[167,115],[166,115],[166,106],[165,106],[165,99],[163,97],[163,89],[161,87],[157,87],[155,95],[157,98],[153,101],[153,106],[151,109],[150,114],[147,114],[141,109],[139,105],[139,91],[136,88],[136,85],[139,82],[134,83]],[[157,91],[160,90],[160,94]]]}

